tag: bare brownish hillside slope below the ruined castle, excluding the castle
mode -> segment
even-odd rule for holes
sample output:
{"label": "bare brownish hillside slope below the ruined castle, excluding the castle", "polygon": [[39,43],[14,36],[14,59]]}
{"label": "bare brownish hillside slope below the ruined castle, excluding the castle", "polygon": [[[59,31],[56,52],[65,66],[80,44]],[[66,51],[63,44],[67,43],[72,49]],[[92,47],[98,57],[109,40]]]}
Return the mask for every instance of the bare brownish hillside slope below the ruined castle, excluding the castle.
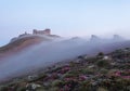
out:
{"label": "bare brownish hillside slope below the ruined castle, excluding the castle", "polygon": [[29,36],[29,37],[20,38],[0,48],[0,58],[21,52],[22,50],[27,49],[28,47],[51,40],[52,39],[40,36]]}

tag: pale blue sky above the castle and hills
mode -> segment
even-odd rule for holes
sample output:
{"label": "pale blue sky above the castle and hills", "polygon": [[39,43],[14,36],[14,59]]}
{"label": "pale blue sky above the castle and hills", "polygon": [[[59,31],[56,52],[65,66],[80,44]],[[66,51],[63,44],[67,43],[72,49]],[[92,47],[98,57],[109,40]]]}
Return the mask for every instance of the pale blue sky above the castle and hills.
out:
{"label": "pale blue sky above the castle and hills", "polygon": [[130,0],[0,0],[0,46],[32,29],[72,36],[129,37]]}

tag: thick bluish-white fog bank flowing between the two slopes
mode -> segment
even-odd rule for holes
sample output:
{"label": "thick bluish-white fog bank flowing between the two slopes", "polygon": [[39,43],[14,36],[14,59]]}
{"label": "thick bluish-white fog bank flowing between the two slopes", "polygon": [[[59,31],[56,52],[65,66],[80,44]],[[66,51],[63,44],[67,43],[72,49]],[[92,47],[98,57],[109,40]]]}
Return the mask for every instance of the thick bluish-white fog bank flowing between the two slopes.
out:
{"label": "thick bluish-white fog bank flowing between the two slopes", "polygon": [[0,61],[0,80],[15,77],[21,73],[34,72],[34,69],[43,68],[53,63],[72,60],[81,54],[94,55],[101,51],[107,53],[125,47],[123,42],[126,40],[87,40],[84,38],[42,42]]}

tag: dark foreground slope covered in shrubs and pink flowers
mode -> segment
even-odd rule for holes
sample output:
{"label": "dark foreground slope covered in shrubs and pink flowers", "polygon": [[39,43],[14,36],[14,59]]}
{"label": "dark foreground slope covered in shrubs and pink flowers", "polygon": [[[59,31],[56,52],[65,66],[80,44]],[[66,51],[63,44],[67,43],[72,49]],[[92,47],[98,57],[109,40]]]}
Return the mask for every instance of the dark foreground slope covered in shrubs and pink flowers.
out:
{"label": "dark foreground slope covered in shrubs and pink flowers", "polygon": [[130,91],[130,48],[80,55],[43,73],[1,83],[0,91]]}

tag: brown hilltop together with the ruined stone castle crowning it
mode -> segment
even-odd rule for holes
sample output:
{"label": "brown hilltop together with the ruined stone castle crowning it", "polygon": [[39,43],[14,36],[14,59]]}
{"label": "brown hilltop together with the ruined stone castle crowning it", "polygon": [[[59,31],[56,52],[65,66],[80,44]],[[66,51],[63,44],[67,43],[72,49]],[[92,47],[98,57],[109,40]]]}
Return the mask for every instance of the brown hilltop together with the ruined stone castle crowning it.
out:
{"label": "brown hilltop together with the ruined stone castle crowning it", "polygon": [[56,38],[60,38],[60,36],[52,35],[51,29],[34,29],[32,34],[27,34],[25,31],[25,34],[12,38],[8,44],[0,47],[0,58],[21,52],[24,49],[39,44],[43,41],[52,41]]}

